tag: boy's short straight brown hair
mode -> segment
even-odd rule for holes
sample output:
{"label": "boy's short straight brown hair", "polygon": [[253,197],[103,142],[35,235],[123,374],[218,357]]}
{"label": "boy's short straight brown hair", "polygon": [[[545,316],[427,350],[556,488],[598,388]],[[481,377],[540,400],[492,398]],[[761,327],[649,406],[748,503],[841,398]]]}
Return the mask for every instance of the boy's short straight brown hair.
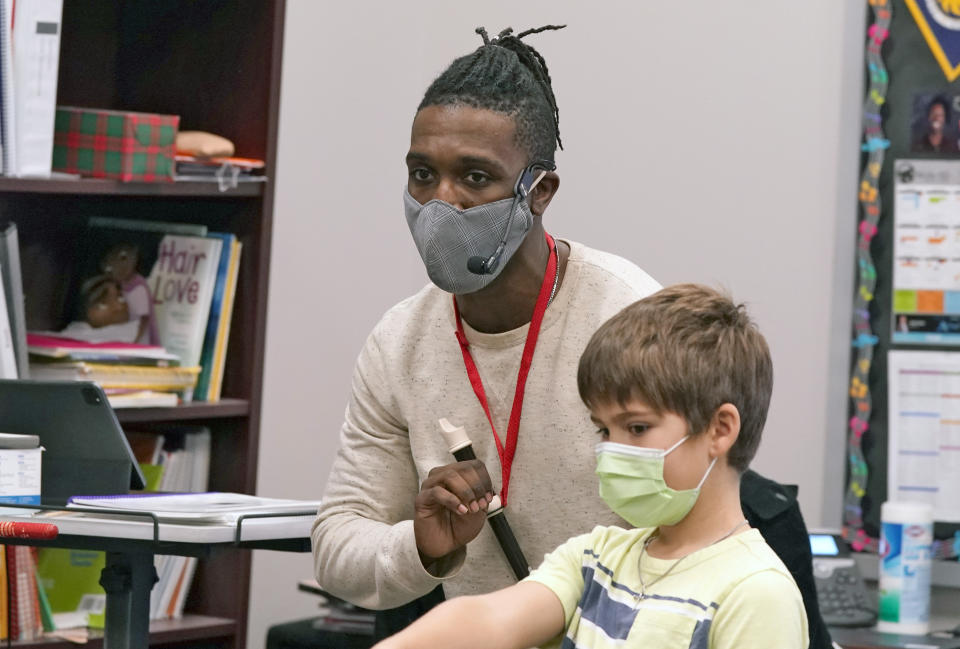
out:
{"label": "boy's short straight brown hair", "polygon": [[587,406],[641,399],[682,416],[691,435],[706,431],[721,405],[733,404],[740,435],[727,462],[742,473],[760,444],[773,363],[744,305],[705,286],[677,284],[634,302],[593,334],[577,385]]}

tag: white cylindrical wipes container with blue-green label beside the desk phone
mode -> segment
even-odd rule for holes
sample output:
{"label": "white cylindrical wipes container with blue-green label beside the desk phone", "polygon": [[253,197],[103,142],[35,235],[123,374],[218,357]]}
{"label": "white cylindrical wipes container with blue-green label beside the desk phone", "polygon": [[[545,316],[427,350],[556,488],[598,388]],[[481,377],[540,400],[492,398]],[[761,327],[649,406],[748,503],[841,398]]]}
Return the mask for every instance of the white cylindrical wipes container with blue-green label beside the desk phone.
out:
{"label": "white cylindrical wipes container with blue-green label beside the desk phone", "polygon": [[877,629],[925,634],[930,630],[933,507],[886,502],[880,508],[880,606]]}

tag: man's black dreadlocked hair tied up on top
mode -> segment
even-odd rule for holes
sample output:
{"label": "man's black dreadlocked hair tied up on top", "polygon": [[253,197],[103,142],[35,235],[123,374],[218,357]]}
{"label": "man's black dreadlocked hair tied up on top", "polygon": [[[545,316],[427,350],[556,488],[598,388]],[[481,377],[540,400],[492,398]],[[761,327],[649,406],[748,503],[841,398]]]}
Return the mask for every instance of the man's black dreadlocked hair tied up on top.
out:
{"label": "man's black dreadlocked hair tied up on top", "polygon": [[461,56],[437,77],[417,110],[427,106],[466,105],[509,115],[517,142],[531,159],[553,162],[560,140],[560,110],[547,62],[521,39],[566,25],[545,25],[514,35],[507,27],[495,38],[477,27],[483,45]]}

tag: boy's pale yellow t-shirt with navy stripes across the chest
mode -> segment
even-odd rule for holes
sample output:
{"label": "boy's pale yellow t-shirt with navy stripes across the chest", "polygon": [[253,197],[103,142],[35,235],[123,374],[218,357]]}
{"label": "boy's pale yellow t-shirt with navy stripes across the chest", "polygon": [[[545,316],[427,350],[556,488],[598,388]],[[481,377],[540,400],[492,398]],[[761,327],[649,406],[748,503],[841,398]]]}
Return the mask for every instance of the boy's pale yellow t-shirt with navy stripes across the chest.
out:
{"label": "boy's pale yellow t-shirt with navy stripes across the chest", "polygon": [[563,649],[806,649],[803,600],[751,529],[676,559],[643,555],[652,529],[596,527],[548,554],[527,579],[563,604]]}

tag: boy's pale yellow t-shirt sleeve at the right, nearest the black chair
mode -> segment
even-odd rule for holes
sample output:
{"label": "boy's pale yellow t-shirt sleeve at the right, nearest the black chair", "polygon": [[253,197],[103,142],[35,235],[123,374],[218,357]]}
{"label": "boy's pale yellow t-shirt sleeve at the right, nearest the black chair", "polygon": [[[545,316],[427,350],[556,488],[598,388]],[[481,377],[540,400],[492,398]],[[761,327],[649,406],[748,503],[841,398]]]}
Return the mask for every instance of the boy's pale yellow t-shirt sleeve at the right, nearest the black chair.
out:
{"label": "boy's pale yellow t-shirt sleeve at the right, nearest the black chair", "polygon": [[737,584],[710,629],[712,649],[807,649],[808,643],[800,592],[790,577],[774,570]]}

